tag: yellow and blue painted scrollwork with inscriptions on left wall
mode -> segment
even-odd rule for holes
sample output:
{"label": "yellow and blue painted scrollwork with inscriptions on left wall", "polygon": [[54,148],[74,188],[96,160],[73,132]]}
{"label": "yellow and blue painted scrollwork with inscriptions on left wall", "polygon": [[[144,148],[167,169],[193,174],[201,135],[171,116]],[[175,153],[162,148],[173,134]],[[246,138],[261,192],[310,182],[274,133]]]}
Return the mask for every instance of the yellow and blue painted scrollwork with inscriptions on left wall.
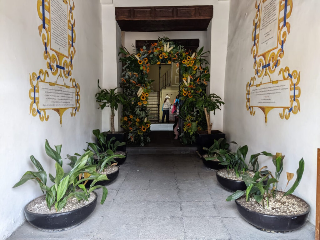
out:
{"label": "yellow and blue painted scrollwork with inscriptions on left wall", "polygon": [[[41,121],[49,119],[46,113],[49,109],[59,114],[60,124],[67,109],[72,109],[71,116],[80,110],[80,86],[71,77],[76,55],[74,8],[73,0],[37,0],[37,12],[42,20],[38,30],[47,70],[30,74],[29,97],[30,114],[39,115]],[[46,81],[49,73],[53,81]]]}

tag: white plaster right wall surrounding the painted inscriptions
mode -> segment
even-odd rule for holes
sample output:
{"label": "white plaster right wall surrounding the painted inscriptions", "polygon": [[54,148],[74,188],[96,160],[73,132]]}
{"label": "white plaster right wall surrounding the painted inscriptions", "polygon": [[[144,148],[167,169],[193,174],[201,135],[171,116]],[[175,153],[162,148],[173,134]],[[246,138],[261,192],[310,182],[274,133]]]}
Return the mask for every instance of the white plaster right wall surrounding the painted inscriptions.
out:
{"label": "white plaster right wall surrounding the painted inscriptions", "polygon": [[[296,175],[301,157],[305,160],[304,175],[295,195],[305,199],[311,206],[309,220],[315,224],[316,216],[316,154],[320,147],[319,127],[319,82],[320,82],[320,38],[317,0],[293,0],[292,14],[287,20],[290,34],[284,44],[284,57],[280,68],[288,66],[290,71],[300,71],[300,112],[291,114],[288,120],[279,117],[279,110],[273,109],[268,114],[267,125],[264,114],[255,108],[255,116],[246,110],[246,84],[254,76],[251,55],[253,18],[256,13],[255,1],[230,1],[228,53],[225,77],[224,131],[228,140],[240,145],[247,144],[249,154],[260,151],[282,152],[284,170],[280,187],[286,185],[285,172]],[[276,80],[277,73],[272,75]],[[272,161],[261,158],[263,165],[268,165],[274,172]],[[294,177],[295,180],[296,176]],[[292,181],[294,181],[292,180]],[[292,184],[292,183],[291,183]],[[291,185],[290,185],[291,186]]]}

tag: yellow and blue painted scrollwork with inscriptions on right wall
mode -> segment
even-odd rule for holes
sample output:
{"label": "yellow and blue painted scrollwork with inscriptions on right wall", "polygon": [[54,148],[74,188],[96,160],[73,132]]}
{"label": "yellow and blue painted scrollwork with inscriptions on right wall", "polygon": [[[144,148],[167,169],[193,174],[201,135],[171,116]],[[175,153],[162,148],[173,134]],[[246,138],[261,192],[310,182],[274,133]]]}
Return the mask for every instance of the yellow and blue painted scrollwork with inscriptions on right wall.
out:
{"label": "yellow and blue painted scrollwork with inscriptions on right wall", "polygon": [[[281,119],[300,111],[300,72],[289,67],[280,68],[273,75],[284,57],[284,44],[290,33],[288,22],[292,0],[256,0],[257,12],[253,20],[252,57],[254,75],[246,85],[246,109],[253,116],[255,107],[265,115],[273,108],[282,108]],[[275,76],[277,79],[273,80]],[[280,78],[279,78],[280,76]]]}

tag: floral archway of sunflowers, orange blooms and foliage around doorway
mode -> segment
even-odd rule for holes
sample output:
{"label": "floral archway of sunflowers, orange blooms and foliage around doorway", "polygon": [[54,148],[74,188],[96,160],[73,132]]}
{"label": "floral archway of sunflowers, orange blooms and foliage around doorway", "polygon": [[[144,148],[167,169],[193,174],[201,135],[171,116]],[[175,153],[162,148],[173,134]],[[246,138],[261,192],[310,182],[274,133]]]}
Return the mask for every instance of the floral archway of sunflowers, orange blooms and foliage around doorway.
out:
{"label": "floral archway of sunflowers, orange blooms and foliage around doorway", "polygon": [[150,64],[171,64],[179,66],[181,107],[179,117],[183,119],[183,132],[180,141],[189,144],[195,141],[195,131],[207,128],[203,108],[203,96],[210,80],[208,62],[202,58],[206,52],[203,47],[198,52],[188,52],[183,46],[177,45],[169,38],[159,38],[157,43],[151,43],[137,49],[130,54],[126,49],[120,48],[120,57],[124,64],[120,86],[123,93],[131,99],[123,106],[121,126],[128,131],[129,142],[141,146],[150,142],[150,121],[148,120],[148,95],[151,92],[150,84],[153,80],[148,78]]}

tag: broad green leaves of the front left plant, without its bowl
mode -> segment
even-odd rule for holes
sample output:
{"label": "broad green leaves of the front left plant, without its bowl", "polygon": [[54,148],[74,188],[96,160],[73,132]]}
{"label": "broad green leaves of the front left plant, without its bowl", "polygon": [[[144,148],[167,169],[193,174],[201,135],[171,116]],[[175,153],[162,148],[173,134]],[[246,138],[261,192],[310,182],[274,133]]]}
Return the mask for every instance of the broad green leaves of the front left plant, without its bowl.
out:
{"label": "broad green leaves of the front left plant, without its bowl", "polygon": [[[52,174],[49,173],[49,179],[53,183],[51,187],[47,186],[47,173],[44,171],[40,162],[32,155],[30,156],[30,160],[38,171],[27,171],[13,188],[22,185],[30,179],[35,179],[45,194],[48,208],[51,210],[52,205],[54,205],[56,212],[64,208],[68,199],[71,197],[76,197],[78,201],[88,201],[90,193],[97,188],[102,188],[100,204],[103,204],[106,200],[108,190],[104,186],[94,186],[94,184],[98,181],[108,180],[108,178],[106,175],[99,174],[95,171],[96,165],[86,165],[88,157],[91,157],[93,153],[86,151],[78,159],[74,156],[72,169],[69,172],[64,172],[62,168],[62,158],[60,156],[61,147],[62,145],[55,146],[54,150],[50,147],[48,140],[45,140],[45,151],[49,157],[55,160],[56,176],[53,177]],[[84,172],[90,173],[90,177],[78,180],[78,176]],[[90,184],[90,188],[86,189],[82,183],[89,179],[93,181]]]}

